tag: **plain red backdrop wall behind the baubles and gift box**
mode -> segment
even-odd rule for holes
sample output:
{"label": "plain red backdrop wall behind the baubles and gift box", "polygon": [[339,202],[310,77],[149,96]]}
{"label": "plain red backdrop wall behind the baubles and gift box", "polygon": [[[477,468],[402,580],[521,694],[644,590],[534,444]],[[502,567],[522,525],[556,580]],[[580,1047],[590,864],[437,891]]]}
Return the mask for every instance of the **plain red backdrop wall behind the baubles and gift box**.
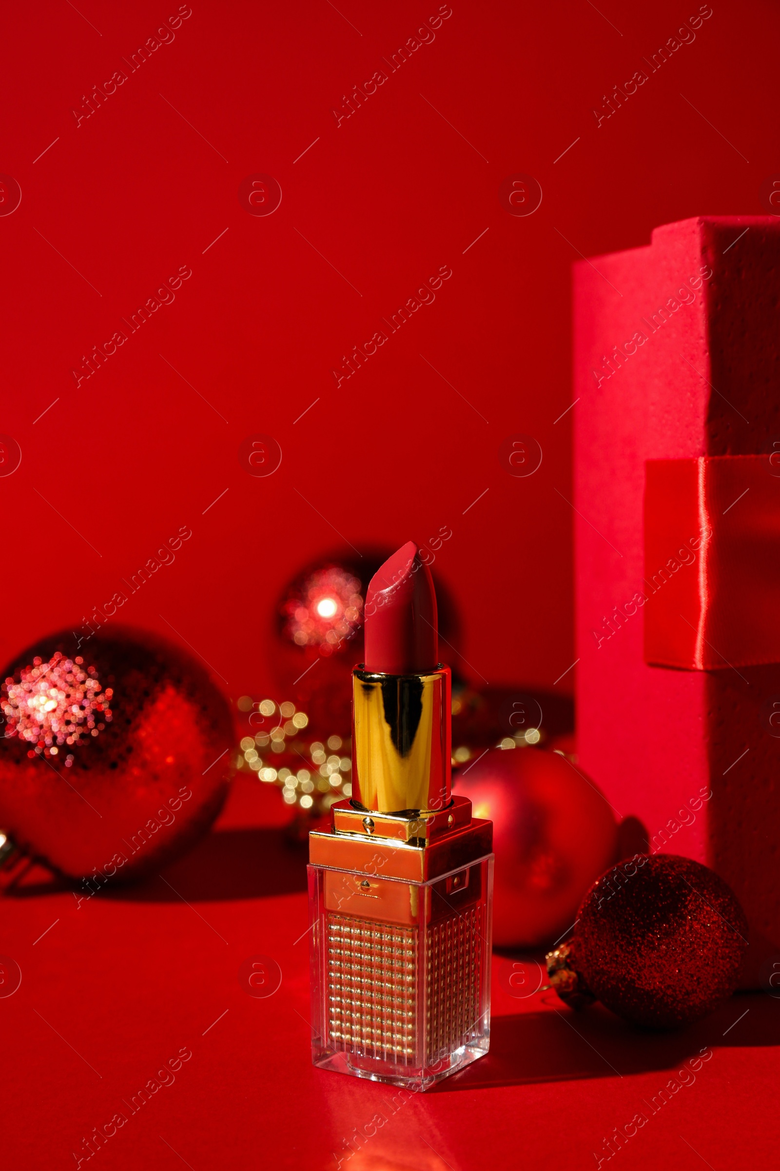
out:
{"label": "plain red backdrop wall behind the baubles and gift box", "polygon": [[[47,629],[78,630],[187,525],[175,563],[122,617],[175,628],[234,697],[260,693],[272,605],[302,564],[351,552],[339,533],[364,552],[448,525],[434,573],[460,610],[468,662],[454,665],[550,686],[573,662],[572,412],[553,425],[572,400],[570,266],[578,251],[644,244],[664,221],[761,211],[778,166],[762,114],[778,13],[717,5],[596,128],[592,109],[688,9],[456,4],[433,43],[337,126],[343,95],[437,6],[339,8],[195,4],[78,126],[82,95],[168,9],[80,6],[102,35],[68,4],[7,14],[0,169],[22,201],[0,219],[2,431],[22,463],[0,493],[22,555],[4,658]],[[256,172],[283,191],[267,218],[237,199]],[[530,217],[498,201],[516,172],[544,192]],[[82,355],[181,265],[193,275],[175,301],[76,389]],[[453,276],[436,301],[337,389],[341,356],[442,265]],[[256,432],[282,447],[269,478],[239,465]],[[498,460],[516,432],[544,451],[527,479]],[[479,618],[485,596],[501,637]],[[572,686],[572,674],[558,684]]]}

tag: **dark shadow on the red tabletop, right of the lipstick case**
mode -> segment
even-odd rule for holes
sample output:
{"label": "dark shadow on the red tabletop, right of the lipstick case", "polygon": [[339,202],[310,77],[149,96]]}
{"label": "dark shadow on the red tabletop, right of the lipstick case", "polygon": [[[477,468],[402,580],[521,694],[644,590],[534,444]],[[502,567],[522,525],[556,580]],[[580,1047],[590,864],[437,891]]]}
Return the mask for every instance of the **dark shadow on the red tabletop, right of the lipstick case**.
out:
{"label": "dark shadow on the red tabletop, right of the lipstick case", "polygon": [[705,1047],[773,1045],[780,1045],[780,1000],[760,992],[738,993],[677,1033],[636,1028],[601,1005],[580,1013],[561,1005],[554,1012],[493,1016],[488,1056],[429,1093],[674,1070]]}

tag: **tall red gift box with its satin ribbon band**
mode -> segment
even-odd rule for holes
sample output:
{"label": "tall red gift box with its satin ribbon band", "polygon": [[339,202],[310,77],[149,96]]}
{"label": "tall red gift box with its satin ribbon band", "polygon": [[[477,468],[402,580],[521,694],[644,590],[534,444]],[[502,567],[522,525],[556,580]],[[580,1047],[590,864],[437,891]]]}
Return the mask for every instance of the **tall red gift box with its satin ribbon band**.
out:
{"label": "tall red gift box with its satin ribbon band", "polygon": [[580,761],[651,851],[731,884],[747,987],[780,971],[779,307],[771,217],[575,268]]}

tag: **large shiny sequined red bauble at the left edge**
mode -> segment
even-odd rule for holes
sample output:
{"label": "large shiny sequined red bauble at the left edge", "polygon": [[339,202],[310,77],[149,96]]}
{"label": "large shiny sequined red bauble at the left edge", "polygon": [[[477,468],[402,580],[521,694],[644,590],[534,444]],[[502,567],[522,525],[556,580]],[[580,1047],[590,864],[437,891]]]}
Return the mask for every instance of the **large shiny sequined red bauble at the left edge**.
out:
{"label": "large shiny sequined red bauble at the left edge", "polygon": [[233,718],[206,671],[163,639],[60,632],[2,672],[0,828],[71,877],[153,871],[212,823]]}

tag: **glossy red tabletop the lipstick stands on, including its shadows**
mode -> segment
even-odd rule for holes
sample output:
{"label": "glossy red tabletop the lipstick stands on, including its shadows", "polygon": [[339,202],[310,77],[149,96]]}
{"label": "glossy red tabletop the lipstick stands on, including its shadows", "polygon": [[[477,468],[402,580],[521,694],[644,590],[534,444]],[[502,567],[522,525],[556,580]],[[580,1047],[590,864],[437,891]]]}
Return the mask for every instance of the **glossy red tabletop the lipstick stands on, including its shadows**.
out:
{"label": "glossy red tabletop the lipstick stands on, including its shadows", "polygon": [[[746,1151],[771,1164],[780,1001],[765,995],[654,1035],[603,1009],[575,1016],[552,994],[516,999],[510,978],[532,991],[538,966],[495,957],[491,1053],[460,1077],[396,1101],[393,1114],[389,1088],[315,1070],[305,848],[283,847],[277,793],[237,783],[219,831],[164,872],[178,895],[156,878],[78,909],[69,892],[2,902],[2,951],[22,970],[19,991],[0,999],[7,1166],[75,1166],[82,1138],[117,1111],[127,1122],[101,1151],[108,1171],[167,1171],[177,1156],[195,1171],[333,1171],[333,1152],[345,1153],[354,1128],[371,1131],[377,1112],[387,1122],[343,1164],[351,1171],[471,1171],[486,1159],[543,1171],[561,1149],[567,1166],[589,1171],[613,1128],[641,1111],[648,1122],[621,1166],[686,1171],[698,1163],[686,1143],[718,1171],[744,1166]],[[282,970],[269,999],[239,984],[257,954]],[[706,1046],[711,1060],[686,1064]],[[175,1081],[158,1078],[187,1047]],[[130,1114],[123,1100],[152,1078],[167,1084]],[[670,1078],[677,1088],[653,1114]]]}

